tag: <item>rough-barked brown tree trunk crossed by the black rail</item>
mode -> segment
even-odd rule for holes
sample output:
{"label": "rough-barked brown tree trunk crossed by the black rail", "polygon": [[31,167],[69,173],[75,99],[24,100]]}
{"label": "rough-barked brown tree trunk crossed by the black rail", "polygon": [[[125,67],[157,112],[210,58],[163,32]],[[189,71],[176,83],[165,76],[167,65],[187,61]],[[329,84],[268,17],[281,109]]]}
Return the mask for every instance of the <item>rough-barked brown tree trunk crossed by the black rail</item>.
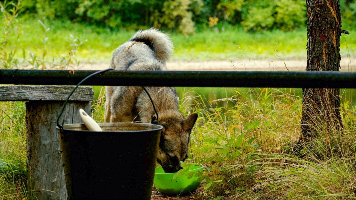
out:
{"label": "rough-barked brown tree trunk crossed by the black rail", "polygon": [[[341,15],[339,0],[307,0],[307,71],[340,70]],[[303,88],[302,136],[304,142],[321,132],[342,128],[340,89]]]}

